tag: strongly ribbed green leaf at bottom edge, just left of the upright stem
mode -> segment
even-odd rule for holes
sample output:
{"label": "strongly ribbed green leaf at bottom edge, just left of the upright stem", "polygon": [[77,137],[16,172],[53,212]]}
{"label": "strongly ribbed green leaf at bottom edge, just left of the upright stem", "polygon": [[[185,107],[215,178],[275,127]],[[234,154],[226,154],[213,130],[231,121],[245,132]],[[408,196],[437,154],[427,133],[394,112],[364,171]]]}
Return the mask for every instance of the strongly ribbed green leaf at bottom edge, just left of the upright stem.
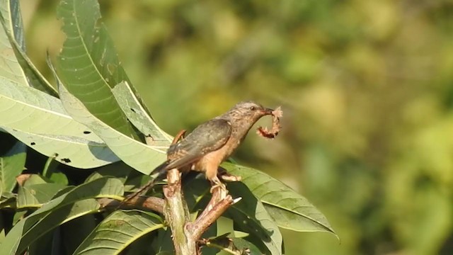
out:
{"label": "strongly ribbed green leaf at bottom edge, just left of the upright stem", "polygon": [[137,210],[117,210],[105,218],[74,254],[120,254],[129,244],[164,227],[161,218]]}

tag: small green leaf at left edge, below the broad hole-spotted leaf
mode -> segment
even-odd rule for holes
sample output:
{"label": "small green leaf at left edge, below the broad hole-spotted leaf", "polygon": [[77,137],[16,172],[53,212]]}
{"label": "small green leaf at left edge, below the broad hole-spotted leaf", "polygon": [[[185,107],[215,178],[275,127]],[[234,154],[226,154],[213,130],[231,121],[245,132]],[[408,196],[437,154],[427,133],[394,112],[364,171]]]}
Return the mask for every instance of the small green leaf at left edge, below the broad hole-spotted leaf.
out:
{"label": "small green leaf at left edge, below the broad hole-spotted leaf", "polygon": [[25,145],[16,142],[3,157],[0,157],[0,195],[4,192],[12,192],[16,186],[16,176],[25,169]]}

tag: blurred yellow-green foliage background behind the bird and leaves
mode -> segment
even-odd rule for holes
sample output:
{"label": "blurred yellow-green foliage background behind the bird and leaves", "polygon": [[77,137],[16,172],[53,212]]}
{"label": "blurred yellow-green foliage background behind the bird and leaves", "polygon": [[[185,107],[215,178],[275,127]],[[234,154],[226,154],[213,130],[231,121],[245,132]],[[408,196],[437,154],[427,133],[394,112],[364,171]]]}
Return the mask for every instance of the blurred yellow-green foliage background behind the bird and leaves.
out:
{"label": "blurred yellow-green foliage background behind the bird and leaves", "polygon": [[[22,0],[28,53],[64,40],[56,0]],[[241,164],[302,193],[330,234],[283,230],[287,254],[453,254],[453,1],[101,1],[123,67],[175,134],[253,99],[275,140]],[[261,125],[270,125],[270,118]]]}

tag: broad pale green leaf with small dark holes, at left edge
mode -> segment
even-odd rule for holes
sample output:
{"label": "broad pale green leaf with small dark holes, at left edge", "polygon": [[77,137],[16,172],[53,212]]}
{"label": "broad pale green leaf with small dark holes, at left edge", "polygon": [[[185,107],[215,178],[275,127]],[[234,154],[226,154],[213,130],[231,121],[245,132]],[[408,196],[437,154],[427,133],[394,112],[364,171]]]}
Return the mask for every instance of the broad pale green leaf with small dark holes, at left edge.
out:
{"label": "broad pale green leaf with small dark holes, at left edge", "polygon": [[119,160],[101,138],[67,115],[58,98],[1,77],[0,123],[47,157],[58,154],[63,164],[93,168]]}

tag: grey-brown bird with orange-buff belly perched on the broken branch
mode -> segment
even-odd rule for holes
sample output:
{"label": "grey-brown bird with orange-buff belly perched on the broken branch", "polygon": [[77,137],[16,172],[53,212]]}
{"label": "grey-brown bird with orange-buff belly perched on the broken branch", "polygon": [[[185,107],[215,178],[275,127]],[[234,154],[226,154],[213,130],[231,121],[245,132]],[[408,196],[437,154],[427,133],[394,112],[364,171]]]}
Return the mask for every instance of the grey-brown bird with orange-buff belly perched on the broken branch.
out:
{"label": "grey-brown bird with orange-buff belly perched on the broken branch", "polygon": [[272,115],[273,111],[259,103],[243,101],[236,103],[226,113],[198,125],[186,137],[168,147],[166,162],[151,172],[151,176],[156,177],[125,198],[123,203],[140,193],[146,193],[170,169],[178,169],[183,173],[201,171],[212,183],[211,192],[217,187],[226,189],[217,176],[220,164],[239,147],[252,126],[261,117]]}

